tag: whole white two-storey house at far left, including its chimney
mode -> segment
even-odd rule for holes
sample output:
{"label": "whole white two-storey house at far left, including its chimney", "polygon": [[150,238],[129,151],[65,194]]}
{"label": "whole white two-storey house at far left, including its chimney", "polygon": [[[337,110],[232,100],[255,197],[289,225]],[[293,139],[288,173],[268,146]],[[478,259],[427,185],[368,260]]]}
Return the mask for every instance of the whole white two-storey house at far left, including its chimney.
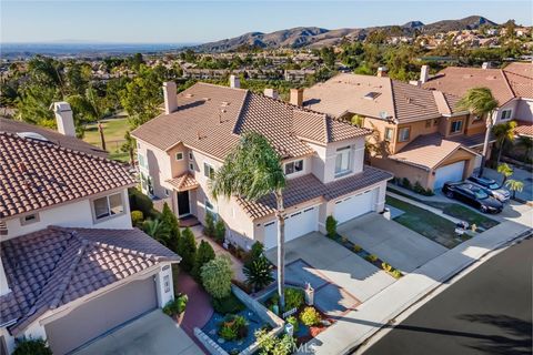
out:
{"label": "whole white two-storey house at far left, including its chimney", "polygon": [[46,338],[67,354],[173,298],[179,256],[130,219],[117,162],[73,136],[0,121],[0,353],[16,338]]}

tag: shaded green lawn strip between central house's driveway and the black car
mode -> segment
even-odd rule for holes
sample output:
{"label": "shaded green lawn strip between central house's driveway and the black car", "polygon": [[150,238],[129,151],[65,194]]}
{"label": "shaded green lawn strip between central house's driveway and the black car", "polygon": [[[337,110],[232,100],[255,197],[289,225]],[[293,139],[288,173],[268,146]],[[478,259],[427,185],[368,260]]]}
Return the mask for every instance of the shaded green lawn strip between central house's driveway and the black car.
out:
{"label": "shaded green lawn strip between central house's driveway and the black car", "polygon": [[446,219],[391,196],[386,196],[386,204],[405,212],[395,217],[395,222],[433,242],[450,248],[463,242],[456,239],[455,224]]}

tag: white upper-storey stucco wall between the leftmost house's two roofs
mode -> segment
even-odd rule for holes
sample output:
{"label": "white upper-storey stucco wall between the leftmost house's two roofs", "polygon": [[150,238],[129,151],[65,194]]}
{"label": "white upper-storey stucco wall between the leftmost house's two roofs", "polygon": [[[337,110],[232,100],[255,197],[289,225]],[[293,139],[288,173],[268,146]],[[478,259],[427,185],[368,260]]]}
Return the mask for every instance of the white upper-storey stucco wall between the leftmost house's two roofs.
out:
{"label": "white upper-storey stucco wall between the leftmost house's two roofs", "polygon": [[[115,215],[103,221],[94,221],[91,201],[93,199],[110,195],[117,192],[122,193],[124,212],[120,215]],[[86,199],[78,202],[44,209],[38,213],[39,222],[33,222],[31,224],[22,225],[20,216],[7,220],[6,224],[8,227],[8,235],[0,236],[0,241],[36,232],[46,229],[49,225],[94,229],[131,229],[130,206],[128,202],[128,191],[125,189],[118,190],[115,192],[111,191],[104,194],[98,194],[91,196],[91,199]]]}

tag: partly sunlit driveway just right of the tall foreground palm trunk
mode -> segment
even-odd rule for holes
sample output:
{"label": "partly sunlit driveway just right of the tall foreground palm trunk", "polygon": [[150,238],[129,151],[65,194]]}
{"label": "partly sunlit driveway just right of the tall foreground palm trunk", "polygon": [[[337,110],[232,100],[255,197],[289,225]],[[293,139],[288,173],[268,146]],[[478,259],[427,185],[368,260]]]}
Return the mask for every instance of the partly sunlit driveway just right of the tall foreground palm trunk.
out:
{"label": "partly sunlit driveway just right of the tall foreground palm trunk", "polygon": [[[275,248],[265,252],[274,264],[275,253]],[[315,297],[322,293],[328,298],[324,303],[328,301],[330,307],[338,298],[339,303],[345,301],[342,293],[353,296],[359,304],[394,283],[392,276],[318,232],[288,242],[285,264],[288,283],[311,282],[315,287]],[[316,287],[320,290],[316,291]]]}

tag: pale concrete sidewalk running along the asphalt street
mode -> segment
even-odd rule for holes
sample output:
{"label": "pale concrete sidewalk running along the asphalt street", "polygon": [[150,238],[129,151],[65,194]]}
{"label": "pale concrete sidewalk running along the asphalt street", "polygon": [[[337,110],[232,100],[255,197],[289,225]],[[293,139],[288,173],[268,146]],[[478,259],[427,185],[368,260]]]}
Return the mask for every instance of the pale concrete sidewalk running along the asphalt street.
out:
{"label": "pale concrete sidewalk running along the asphalt street", "polygon": [[[526,211],[523,219],[531,221],[532,212],[531,209]],[[309,354],[311,348],[314,354],[350,352],[443,282],[529,230],[531,224],[506,221],[457,245],[374,295],[359,311],[339,318],[332,327],[302,347],[301,354],[305,354],[305,349]]]}

